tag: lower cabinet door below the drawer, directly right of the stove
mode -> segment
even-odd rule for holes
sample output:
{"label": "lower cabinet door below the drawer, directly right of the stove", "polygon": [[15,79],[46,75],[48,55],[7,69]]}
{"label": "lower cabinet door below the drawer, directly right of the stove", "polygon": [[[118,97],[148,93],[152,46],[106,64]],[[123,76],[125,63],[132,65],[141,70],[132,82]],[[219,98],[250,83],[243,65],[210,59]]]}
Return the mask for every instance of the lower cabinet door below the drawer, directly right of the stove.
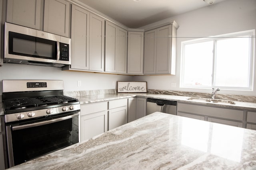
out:
{"label": "lower cabinet door below the drawer, directly right of the stove", "polygon": [[108,127],[107,111],[81,116],[80,127],[81,141],[106,132]]}

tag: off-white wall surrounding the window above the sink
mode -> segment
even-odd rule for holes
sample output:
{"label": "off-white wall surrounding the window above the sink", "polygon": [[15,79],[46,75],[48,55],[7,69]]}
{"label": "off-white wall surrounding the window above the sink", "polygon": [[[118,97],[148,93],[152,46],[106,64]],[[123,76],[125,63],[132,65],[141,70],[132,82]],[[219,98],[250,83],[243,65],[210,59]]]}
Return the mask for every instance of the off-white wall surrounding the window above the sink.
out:
{"label": "off-white wall surrounding the window above the sink", "polygon": [[[177,31],[177,36],[179,38],[177,39],[176,75],[136,76],[134,80],[147,81],[149,89],[211,93],[211,89],[179,88],[181,42],[196,39],[193,37],[207,37],[256,29],[256,0],[227,0],[218,4],[209,5],[198,10],[187,12],[182,15],[168,18],[166,20],[158,21],[141,28],[149,28],[154,25],[159,25],[160,23],[165,23],[172,20],[175,20],[178,25],[180,25]],[[172,82],[176,83],[176,88],[171,87]],[[255,84],[256,81],[254,80],[253,92],[221,90],[219,93],[255,96]]]}

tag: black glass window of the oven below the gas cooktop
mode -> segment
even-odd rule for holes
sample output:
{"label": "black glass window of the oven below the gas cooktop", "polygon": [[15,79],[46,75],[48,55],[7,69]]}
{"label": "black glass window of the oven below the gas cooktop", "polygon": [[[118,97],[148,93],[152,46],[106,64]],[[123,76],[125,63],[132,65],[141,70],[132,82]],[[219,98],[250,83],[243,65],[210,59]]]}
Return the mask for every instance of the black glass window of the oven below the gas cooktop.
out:
{"label": "black glass window of the oven below the gas cooktop", "polygon": [[78,116],[12,131],[14,165],[78,143]]}

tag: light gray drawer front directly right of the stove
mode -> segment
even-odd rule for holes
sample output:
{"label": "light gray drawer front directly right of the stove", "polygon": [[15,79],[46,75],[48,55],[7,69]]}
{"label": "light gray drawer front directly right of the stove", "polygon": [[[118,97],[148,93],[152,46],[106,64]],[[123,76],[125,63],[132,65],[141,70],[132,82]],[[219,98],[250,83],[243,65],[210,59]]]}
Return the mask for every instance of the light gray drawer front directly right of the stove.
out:
{"label": "light gray drawer front directly right of the stove", "polygon": [[81,105],[81,116],[107,110],[107,102]]}

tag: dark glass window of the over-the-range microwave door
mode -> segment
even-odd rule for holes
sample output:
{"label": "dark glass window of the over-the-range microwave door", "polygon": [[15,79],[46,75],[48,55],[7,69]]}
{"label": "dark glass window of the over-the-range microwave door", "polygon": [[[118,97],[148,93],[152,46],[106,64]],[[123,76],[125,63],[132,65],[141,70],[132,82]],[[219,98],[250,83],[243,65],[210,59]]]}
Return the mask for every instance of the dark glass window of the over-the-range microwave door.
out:
{"label": "dark glass window of the over-the-range microwave door", "polygon": [[10,31],[9,54],[56,60],[56,41]]}

